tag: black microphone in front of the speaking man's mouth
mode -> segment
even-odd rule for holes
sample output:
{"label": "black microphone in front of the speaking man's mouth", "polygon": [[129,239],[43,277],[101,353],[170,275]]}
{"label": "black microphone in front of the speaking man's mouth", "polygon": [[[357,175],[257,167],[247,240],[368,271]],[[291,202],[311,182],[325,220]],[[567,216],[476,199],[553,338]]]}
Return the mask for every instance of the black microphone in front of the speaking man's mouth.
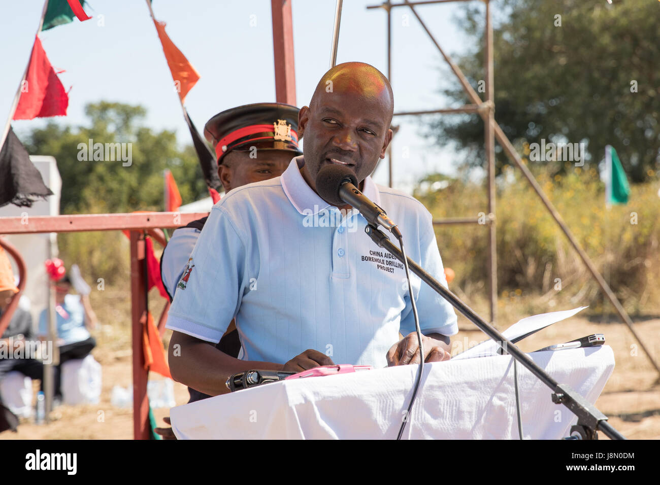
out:
{"label": "black microphone in front of the speaking man's mouth", "polygon": [[326,165],[316,176],[316,190],[323,200],[332,205],[348,204],[360,211],[370,224],[383,226],[401,239],[401,231],[381,207],[373,203],[356,187],[358,178],[350,168]]}

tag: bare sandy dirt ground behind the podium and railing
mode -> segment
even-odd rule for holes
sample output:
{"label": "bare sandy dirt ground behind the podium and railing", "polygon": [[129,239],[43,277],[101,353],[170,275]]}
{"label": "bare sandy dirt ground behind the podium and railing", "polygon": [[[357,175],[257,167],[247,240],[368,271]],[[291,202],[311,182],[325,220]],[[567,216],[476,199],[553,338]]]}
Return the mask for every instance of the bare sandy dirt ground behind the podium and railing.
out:
{"label": "bare sandy dirt ground behind the podium and railing", "polygon": [[[508,326],[508,325],[506,325]],[[644,339],[647,348],[660,360],[660,319],[636,321],[636,331]],[[459,334],[452,337],[456,350],[463,342],[481,341],[485,336],[473,330],[471,324],[459,321]],[[596,405],[609,416],[609,422],[629,439],[660,438],[660,384],[658,375],[645,357],[628,327],[622,323],[595,323],[587,318],[568,319],[523,340],[519,345],[527,352],[546,345],[565,342],[591,333],[603,333],[607,344],[614,350],[616,366]],[[4,432],[0,439],[132,439],[133,422],[131,408],[116,408],[110,404],[114,385],[131,386],[130,347],[117,349],[104,346],[101,338],[93,354],[102,364],[103,387],[99,404],[84,406],[59,406],[52,413],[53,420],[47,425],[24,421],[17,433]],[[107,341],[107,340],[106,340]],[[109,347],[109,348],[105,348]],[[455,353],[455,352],[454,352]],[[177,404],[187,402],[187,389],[174,383]],[[549,394],[548,394],[549,396]],[[549,399],[549,397],[548,397]],[[102,411],[102,413],[100,413]],[[102,416],[100,420],[99,416]],[[160,425],[168,416],[168,409],[154,409]],[[607,439],[600,434],[601,439]]]}

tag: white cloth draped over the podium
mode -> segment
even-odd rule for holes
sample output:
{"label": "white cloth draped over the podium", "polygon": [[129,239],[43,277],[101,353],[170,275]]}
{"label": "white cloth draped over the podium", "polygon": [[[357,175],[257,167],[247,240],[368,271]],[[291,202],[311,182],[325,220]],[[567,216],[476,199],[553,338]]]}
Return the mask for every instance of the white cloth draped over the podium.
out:
{"label": "white cloth draped over the podium", "polygon": [[[610,346],[534,352],[559,383],[595,403],[614,370]],[[292,379],[170,410],[178,439],[395,439],[417,366]],[[407,439],[518,439],[511,356],[424,365]],[[568,436],[577,418],[518,365],[523,435]]]}

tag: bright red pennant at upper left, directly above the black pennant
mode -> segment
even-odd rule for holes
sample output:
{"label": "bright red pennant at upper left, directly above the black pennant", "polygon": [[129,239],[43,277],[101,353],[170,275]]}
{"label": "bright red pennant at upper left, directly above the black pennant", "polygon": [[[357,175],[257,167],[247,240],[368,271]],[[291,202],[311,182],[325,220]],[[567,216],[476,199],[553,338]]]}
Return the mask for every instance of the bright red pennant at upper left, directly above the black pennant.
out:
{"label": "bright red pennant at upper left, directly above the black pennant", "polygon": [[34,39],[28,73],[20,88],[20,99],[13,119],[65,116],[69,96],[50,65],[41,40]]}

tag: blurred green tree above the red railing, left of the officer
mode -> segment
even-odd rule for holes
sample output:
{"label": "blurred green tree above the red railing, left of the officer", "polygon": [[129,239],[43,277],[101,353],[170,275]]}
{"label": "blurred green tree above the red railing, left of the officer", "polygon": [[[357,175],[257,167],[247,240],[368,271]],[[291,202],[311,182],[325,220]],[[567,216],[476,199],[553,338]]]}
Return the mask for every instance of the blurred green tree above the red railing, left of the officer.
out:
{"label": "blurred green tree above the red railing, left of the officer", "polygon": [[[133,212],[163,210],[163,170],[172,170],[183,203],[207,193],[192,146],[178,148],[174,132],[154,133],[141,125],[145,109],[101,101],[85,108],[89,126],[51,121],[28,135],[30,154],[52,155],[62,178],[60,211]],[[130,143],[131,164],[121,160],[79,160],[79,145]],[[81,145],[81,146],[82,146]]]}

